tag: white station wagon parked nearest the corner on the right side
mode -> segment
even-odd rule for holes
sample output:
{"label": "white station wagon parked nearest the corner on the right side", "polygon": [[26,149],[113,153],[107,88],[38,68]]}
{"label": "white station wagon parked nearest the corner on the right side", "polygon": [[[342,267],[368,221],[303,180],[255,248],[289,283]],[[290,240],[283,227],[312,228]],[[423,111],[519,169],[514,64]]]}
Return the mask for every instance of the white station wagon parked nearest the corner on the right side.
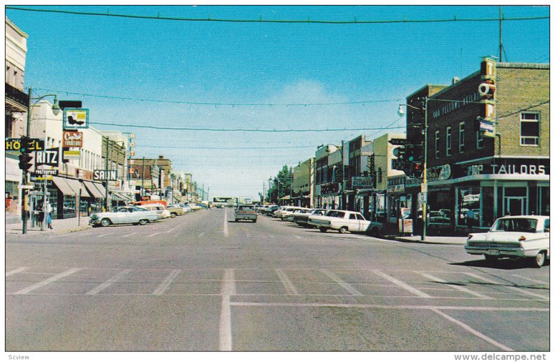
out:
{"label": "white station wagon parked nearest the corner on the right side", "polygon": [[349,231],[377,235],[383,226],[382,223],[366,220],[360,212],[344,210],[328,210],[324,215],[311,215],[308,223],[318,227],[321,232],[334,229],[341,234]]}

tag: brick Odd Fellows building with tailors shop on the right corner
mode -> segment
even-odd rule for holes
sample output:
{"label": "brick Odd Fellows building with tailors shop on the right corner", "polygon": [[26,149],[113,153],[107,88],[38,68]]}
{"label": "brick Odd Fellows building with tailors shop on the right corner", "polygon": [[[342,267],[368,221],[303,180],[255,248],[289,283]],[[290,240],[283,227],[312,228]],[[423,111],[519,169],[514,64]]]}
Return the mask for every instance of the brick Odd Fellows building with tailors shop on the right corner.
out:
{"label": "brick Odd Fellows building with tailors shop on the right corner", "polygon": [[[425,98],[427,97],[427,103]],[[418,143],[427,104],[430,230],[489,227],[507,214],[549,215],[549,64],[496,63],[452,85],[407,97],[407,139]],[[405,184],[421,223],[420,179]]]}

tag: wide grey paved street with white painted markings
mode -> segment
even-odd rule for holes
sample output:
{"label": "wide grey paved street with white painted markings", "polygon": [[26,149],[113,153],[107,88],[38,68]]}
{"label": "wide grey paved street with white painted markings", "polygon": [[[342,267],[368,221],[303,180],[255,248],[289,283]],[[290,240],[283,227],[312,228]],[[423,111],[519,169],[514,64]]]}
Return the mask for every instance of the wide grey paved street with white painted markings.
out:
{"label": "wide grey paved street with white painted markings", "polygon": [[549,350],[549,266],[231,216],[7,235],[6,350]]}

